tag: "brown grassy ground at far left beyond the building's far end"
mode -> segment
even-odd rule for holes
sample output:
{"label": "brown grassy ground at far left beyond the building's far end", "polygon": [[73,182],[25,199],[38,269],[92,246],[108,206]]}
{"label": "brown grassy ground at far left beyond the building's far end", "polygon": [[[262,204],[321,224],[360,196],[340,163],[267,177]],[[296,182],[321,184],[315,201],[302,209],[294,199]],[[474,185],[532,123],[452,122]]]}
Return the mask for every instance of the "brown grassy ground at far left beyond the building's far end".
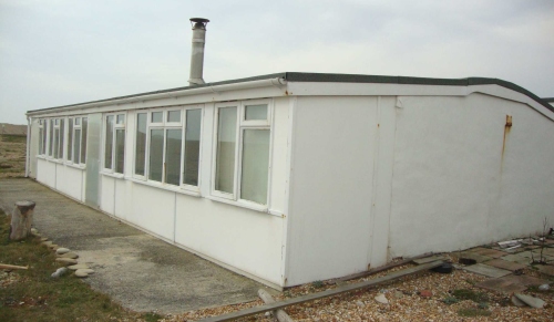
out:
{"label": "brown grassy ground at far left beyond the building's far end", "polygon": [[23,177],[25,174],[24,135],[0,135],[0,178]]}

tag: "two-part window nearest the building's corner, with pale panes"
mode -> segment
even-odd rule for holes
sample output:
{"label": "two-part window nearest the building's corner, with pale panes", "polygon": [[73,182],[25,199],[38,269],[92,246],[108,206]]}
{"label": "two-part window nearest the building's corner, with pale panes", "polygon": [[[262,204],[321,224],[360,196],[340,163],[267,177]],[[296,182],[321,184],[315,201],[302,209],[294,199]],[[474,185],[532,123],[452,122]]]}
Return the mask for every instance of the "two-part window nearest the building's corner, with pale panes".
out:
{"label": "two-part window nearest the building's corner, with pale panes", "polygon": [[215,196],[267,205],[269,112],[257,102],[217,106]]}

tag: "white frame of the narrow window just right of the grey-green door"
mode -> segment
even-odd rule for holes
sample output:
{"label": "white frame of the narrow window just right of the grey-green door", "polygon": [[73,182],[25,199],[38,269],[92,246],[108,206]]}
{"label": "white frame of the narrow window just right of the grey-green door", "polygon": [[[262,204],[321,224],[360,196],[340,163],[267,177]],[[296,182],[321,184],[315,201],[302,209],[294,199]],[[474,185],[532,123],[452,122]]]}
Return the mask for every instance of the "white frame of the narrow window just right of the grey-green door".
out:
{"label": "white frame of the narrow window just right of the grey-green door", "polygon": [[[117,116],[123,115],[123,124],[117,124]],[[107,129],[107,117],[113,116],[113,124],[112,124],[112,162],[111,162],[111,167],[106,168],[105,166],[105,147],[106,147],[106,129]],[[127,129],[126,129],[126,124],[127,124],[127,113],[125,111],[123,112],[112,112],[112,113],[106,113],[102,117],[102,174],[111,174],[117,177],[124,177],[125,175],[125,152],[126,152],[126,146],[127,146]],[[116,164],[115,164],[115,155],[117,153],[117,146],[116,146],[116,139],[117,139],[117,129],[123,129],[124,137],[123,137],[123,172],[119,173],[116,172]]]}

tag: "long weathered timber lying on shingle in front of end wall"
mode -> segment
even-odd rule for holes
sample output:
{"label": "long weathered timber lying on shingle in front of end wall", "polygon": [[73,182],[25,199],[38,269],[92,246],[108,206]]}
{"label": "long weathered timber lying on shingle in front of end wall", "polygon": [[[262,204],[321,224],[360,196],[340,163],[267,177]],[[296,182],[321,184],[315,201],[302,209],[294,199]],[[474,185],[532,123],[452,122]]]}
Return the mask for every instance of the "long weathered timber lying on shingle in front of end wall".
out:
{"label": "long weathered timber lying on shingle in front of end wall", "polygon": [[340,293],[346,293],[346,292],[351,292],[351,291],[356,291],[359,289],[375,287],[377,284],[389,282],[389,281],[392,281],[392,280],[396,280],[396,279],[399,279],[402,277],[407,277],[407,276],[410,276],[410,274],[413,274],[417,272],[433,269],[433,268],[439,267],[443,263],[444,263],[444,261],[438,260],[438,261],[433,261],[430,263],[420,264],[420,266],[417,266],[413,268],[399,270],[399,271],[392,272],[388,276],[377,278],[377,279],[373,279],[370,281],[365,281],[365,282],[359,282],[359,283],[353,283],[353,284],[346,284],[346,285],[341,285],[341,287],[338,287],[338,288],[332,289],[332,290],[327,290],[327,291],[312,293],[312,294],[308,294],[308,295],[304,295],[304,297],[288,299],[288,300],[280,301],[280,302],[254,307],[254,308],[249,308],[249,309],[245,309],[245,310],[240,310],[237,312],[232,312],[232,313],[227,313],[227,314],[223,314],[223,315],[218,315],[218,316],[206,318],[206,319],[199,320],[198,322],[232,321],[235,319],[245,318],[245,316],[249,316],[249,315],[254,315],[254,314],[258,314],[258,313],[264,313],[267,311],[274,311],[274,310],[283,309],[283,308],[286,308],[289,305],[300,304],[304,302],[309,302],[309,301],[314,301],[314,300],[329,298],[329,297],[337,295]]}

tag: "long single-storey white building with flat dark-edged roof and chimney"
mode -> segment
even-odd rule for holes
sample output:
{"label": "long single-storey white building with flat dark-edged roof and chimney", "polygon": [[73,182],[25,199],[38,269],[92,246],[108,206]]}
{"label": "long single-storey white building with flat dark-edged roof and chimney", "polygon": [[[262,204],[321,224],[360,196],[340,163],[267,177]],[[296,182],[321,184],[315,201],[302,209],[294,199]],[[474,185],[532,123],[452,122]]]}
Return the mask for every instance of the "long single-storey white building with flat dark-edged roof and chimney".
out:
{"label": "long single-storey white building with flat dark-edged roof and chimney", "polygon": [[278,289],[554,224],[554,107],[512,83],[191,79],[28,112],[28,176]]}

